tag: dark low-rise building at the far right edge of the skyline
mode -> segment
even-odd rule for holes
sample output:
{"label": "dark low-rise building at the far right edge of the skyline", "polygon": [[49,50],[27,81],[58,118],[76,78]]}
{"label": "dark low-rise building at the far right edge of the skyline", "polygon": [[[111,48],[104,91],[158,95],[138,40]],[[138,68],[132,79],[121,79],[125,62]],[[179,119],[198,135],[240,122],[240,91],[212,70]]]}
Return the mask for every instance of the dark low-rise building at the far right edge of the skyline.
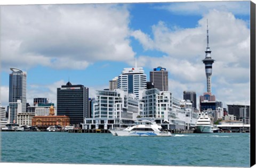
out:
{"label": "dark low-rise building at the far right edge of the skyline", "polygon": [[229,104],[228,114],[236,116],[236,119],[243,121],[245,124],[250,124],[250,106],[249,105],[235,105]]}

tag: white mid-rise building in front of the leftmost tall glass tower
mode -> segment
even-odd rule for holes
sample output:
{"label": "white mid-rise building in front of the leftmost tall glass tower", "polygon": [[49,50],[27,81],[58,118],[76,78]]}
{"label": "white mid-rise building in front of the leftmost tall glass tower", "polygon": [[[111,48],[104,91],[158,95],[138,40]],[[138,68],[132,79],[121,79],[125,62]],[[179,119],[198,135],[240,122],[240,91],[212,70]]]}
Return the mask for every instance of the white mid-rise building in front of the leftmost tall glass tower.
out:
{"label": "white mid-rise building in front of the leftmost tall glass tower", "polygon": [[22,113],[22,103],[21,100],[17,100],[16,103],[9,103],[9,116],[8,123],[16,123],[18,113]]}

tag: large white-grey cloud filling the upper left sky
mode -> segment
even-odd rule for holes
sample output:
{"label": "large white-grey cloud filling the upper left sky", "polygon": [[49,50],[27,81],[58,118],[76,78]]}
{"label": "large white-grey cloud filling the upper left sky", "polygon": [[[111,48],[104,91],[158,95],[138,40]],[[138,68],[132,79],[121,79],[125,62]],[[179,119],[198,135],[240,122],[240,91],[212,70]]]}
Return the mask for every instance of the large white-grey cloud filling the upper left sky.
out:
{"label": "large white-grey cloud filling the upper left sky", "polygon": [[85,69],[99,60],[132,60],[128,24],[125,5],[2,6],[3,69]]}

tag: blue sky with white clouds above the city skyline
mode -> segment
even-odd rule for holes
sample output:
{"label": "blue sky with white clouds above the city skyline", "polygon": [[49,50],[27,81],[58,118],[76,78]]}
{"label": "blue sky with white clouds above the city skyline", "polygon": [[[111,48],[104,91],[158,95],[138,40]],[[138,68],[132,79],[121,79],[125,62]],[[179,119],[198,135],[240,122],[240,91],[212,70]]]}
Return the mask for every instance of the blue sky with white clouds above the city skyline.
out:
{"label": "blue sky with white clouds above the city skyline", "polygon": [[167,2],[2,5],[1,105],[9,101],[10,68],[27,72],[27,102],[57,102],[57,88],[95,90],[124,68],[169,71],[169,91],[206,92],[206,24],[215,60],[212,94],[226,104],[250,104],[250,2]]}

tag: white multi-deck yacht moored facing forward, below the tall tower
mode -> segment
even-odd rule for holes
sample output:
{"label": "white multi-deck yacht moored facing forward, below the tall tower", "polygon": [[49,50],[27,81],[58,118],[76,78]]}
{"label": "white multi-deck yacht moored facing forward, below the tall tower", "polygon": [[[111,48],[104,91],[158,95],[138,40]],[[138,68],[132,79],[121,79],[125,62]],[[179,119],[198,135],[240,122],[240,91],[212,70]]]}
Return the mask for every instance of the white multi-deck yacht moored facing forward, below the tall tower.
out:
{"label": "white multi-deck yacht moored facing forward, below the tall tower", "polygon": [[195,125],[195,133],[213,133],[212,122],[207,113],[200,113]]}

